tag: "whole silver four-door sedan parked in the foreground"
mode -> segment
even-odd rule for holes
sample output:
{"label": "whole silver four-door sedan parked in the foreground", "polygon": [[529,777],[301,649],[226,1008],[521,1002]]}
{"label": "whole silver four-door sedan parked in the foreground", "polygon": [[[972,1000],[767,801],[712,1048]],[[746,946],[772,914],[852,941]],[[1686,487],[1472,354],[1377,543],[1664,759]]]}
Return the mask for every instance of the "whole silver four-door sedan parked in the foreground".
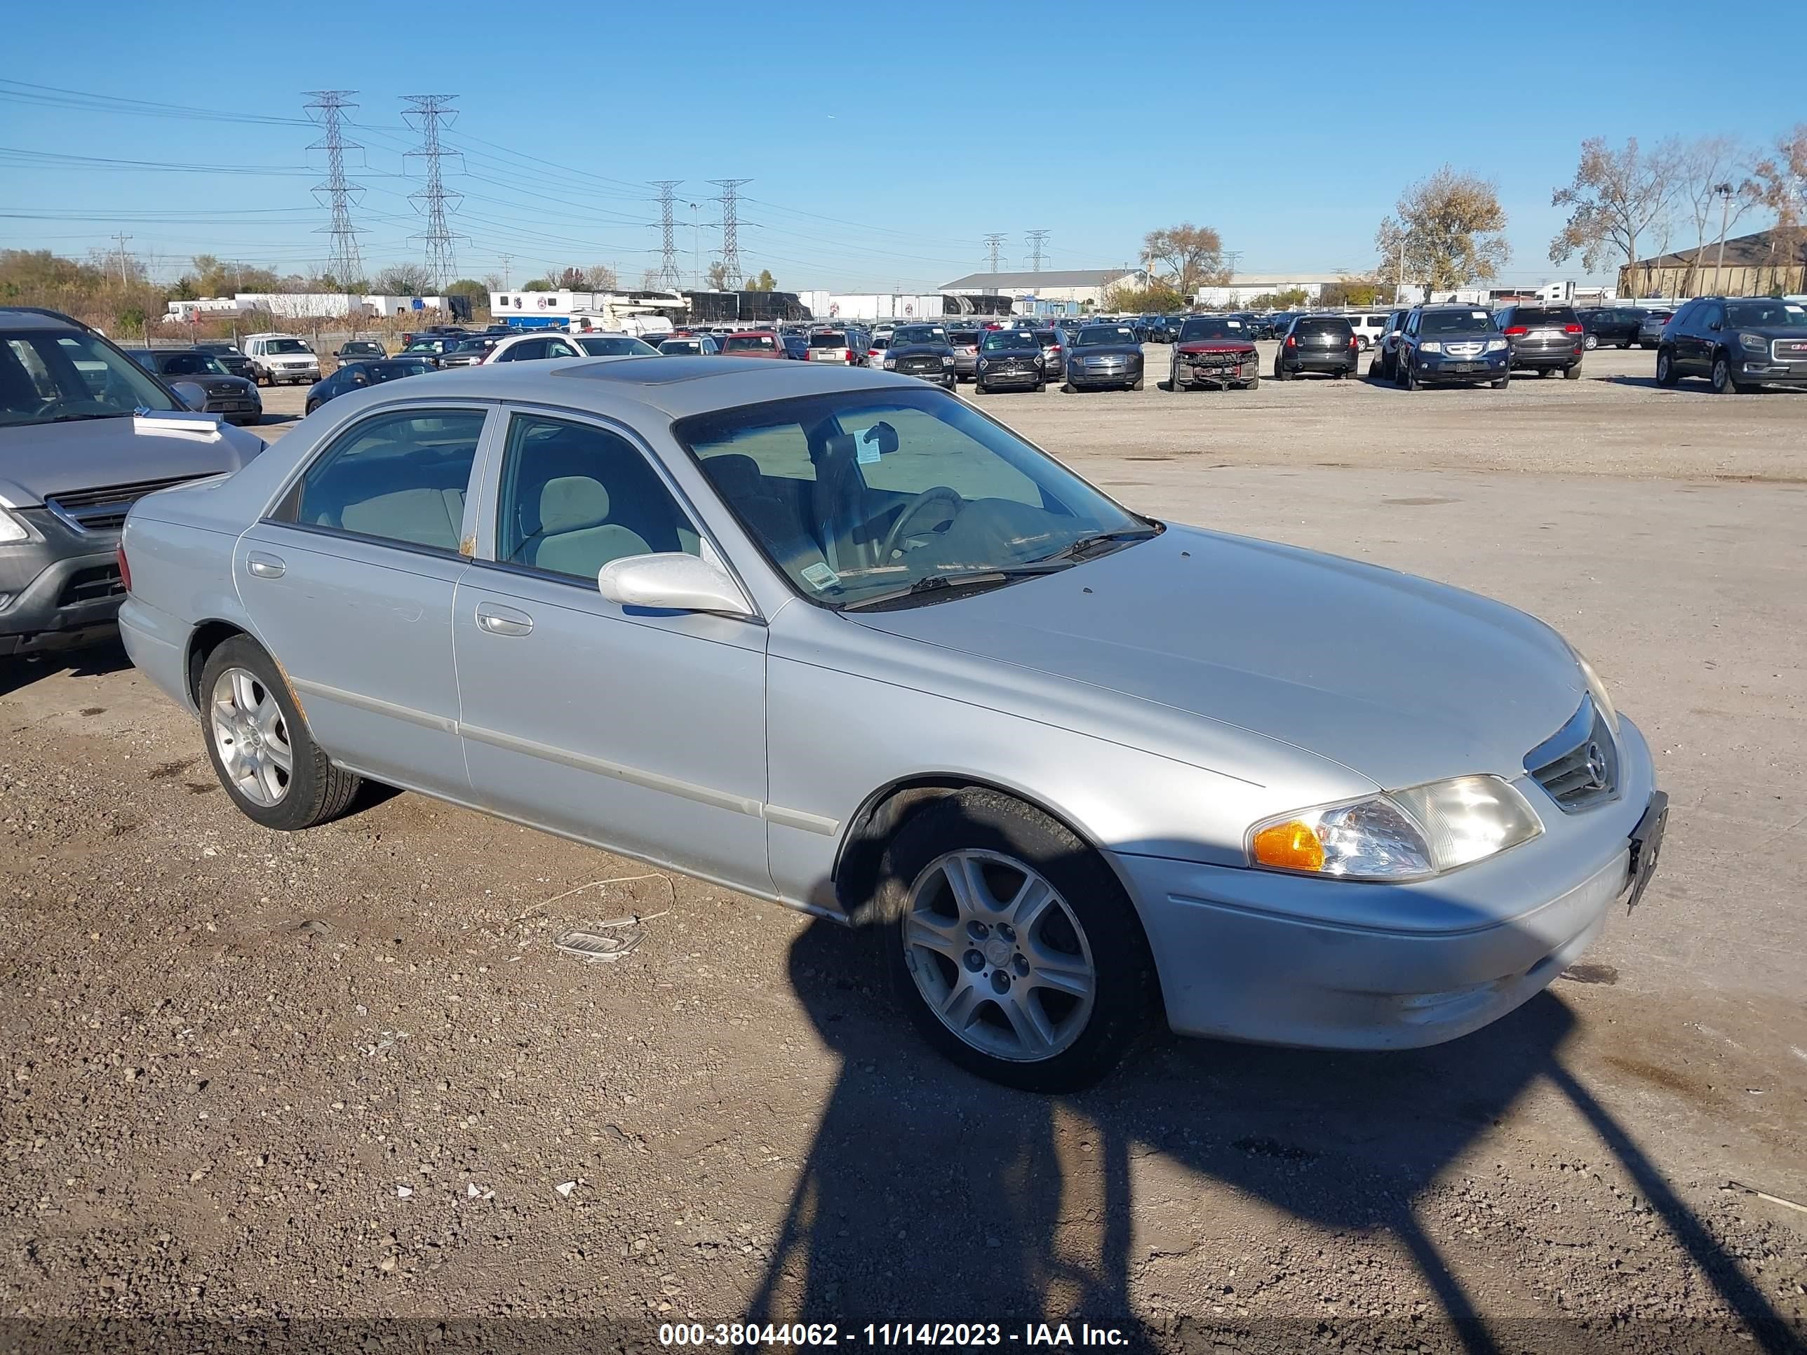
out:
{"label": "whole silver four-door sedan parked in the foreground", "polygon": [[1035,1089],[1193,1035],[1400,1048],[1650,880],[1643,735],[1541,621],[1138,517],[967,401],[611,358],[345,396],[141,499],[121,612],[246,815],[361,779],[867,929]]}

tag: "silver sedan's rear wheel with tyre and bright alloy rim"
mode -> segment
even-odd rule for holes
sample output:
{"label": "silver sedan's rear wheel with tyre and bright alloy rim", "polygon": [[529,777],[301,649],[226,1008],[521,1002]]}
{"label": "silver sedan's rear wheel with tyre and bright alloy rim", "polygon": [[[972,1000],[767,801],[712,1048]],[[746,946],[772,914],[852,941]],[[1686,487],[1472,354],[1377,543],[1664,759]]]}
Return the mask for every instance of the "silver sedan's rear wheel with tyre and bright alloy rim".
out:
{"label": "silver sedan's rear wheel with tyre and bright alloy rim", "polygon": [[235,636],[215,649],[197,696],[208,761],[248,818],[293,833],[345,813],[360,777],[327,761],[255,640]]}

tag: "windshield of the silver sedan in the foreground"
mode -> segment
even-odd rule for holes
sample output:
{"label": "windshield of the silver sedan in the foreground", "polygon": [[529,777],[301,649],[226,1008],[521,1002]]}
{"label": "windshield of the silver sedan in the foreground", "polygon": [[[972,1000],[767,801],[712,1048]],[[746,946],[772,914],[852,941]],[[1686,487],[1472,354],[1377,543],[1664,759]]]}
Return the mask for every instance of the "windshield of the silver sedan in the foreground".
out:
{"label": "windshield of the silver sedan in the foreground", "polygon": [[672,434],[772,564],[828,607],[909,596],[923,580],[994,585],[1006,582],[996,571],[1072,564],[1055,556],[1075,542],[1155,531],[940,390],[782,399]]}

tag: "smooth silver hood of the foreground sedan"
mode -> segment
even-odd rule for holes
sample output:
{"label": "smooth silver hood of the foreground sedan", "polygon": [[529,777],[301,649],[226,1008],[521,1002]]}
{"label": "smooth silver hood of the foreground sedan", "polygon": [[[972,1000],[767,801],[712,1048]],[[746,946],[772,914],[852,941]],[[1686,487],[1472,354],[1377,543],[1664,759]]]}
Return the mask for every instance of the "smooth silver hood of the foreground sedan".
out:
{"label": "smooth silver hood of the foreground sedan", "polygon": [[1561,636],[1505,603],[1196,528],[849,618],[1288,743],[1391,790],[1520,777],[1585,694]]}

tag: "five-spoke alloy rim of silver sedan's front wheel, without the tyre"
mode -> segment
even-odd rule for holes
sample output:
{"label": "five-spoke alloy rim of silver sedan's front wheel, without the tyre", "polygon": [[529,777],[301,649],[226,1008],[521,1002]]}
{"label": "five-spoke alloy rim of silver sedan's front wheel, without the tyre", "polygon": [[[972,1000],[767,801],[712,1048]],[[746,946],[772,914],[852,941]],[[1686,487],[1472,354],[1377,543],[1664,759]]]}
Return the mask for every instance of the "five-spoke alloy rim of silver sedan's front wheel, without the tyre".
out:
{"label": "five-spoke alloy rim of silver sedan's front wheel, without the tyre", "polygon": [[994,1059],[1052,1059],[1084,1033],[1091,945],[1035,869],[996,851],[938,856],[911,887],[904,961],[929,1010]]}

